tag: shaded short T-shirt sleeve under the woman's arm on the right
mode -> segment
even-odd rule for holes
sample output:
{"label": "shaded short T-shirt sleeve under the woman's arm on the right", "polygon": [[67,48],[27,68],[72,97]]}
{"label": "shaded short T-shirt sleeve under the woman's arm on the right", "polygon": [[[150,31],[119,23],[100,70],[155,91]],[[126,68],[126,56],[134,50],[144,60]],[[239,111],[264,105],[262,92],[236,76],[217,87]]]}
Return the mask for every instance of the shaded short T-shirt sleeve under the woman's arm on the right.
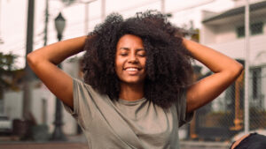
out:
{"label": "shaded short T-shirt sleeve under the woman's arm on the right", "polygon": [[186,113],[186,91],[180,94],[180,98],[176,103],[176,110],[178,116],[178,125],[181,127],[184,123],[192,120],[194,112]]}

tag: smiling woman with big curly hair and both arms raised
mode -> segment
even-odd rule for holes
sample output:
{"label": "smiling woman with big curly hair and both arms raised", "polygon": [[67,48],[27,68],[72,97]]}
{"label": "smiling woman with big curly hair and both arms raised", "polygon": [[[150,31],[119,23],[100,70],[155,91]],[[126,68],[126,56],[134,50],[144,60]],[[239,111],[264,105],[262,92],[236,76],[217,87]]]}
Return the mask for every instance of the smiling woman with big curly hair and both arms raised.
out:
{"label": "smiling woman with big curly hair and both arms raised", "polygon": [[[74,115],[90,148],[179,148],[178,127],[243,68],[178,34],[156,11],[126,20],[112,14],[87,37],[37,49],[27,61]],[[82,50],[85,82],[56,66]],[[191,58],[214,74],[192,83]]]}

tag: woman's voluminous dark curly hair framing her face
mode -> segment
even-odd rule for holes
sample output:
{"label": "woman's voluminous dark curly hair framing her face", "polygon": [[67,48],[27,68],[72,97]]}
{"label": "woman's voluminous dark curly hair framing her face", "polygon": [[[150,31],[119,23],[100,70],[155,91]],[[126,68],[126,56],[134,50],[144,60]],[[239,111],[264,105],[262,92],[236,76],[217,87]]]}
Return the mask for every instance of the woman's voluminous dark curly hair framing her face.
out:
{"label": "woman's voluminous dark curly hair framing her face", "polygon": [[142,39],[146,51],[145,98],[169,108],[192,83],[191,55],[176,35],[179,33],[159,11],[140,12],[129,19],[117,13],[107,16],[85,43],[84,81],[117,100],[120,80],[114,68],[116,44],[124,34],[134,34]]}

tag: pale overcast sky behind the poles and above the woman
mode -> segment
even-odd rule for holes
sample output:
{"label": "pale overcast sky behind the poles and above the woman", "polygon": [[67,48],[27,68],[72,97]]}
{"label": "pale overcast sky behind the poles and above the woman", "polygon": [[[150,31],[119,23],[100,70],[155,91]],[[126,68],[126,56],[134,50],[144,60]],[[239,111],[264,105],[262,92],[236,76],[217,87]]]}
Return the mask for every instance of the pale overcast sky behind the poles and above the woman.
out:
{"label": "pale overcast sky behind the poles and above the woman", "polygon": [[[66,18],[66,29],[63,39],[74,38],[85,34],[84,4],[73,4],[64,7],[59,0],[49,0],[50,19],[48,44],[57,41],[54,19],[62,11]],[[89,31],[101,22],[101,0],[90,4]],[[193,20],[194,26],[200,28],[200,10],[225,11],[233,7],[232,0],[165,0],[165,11],[171,12],[170,21],[177,26],[184,26]],[[34,49],[43,47],[45,0],[35,0]],[[161,10],[160,0],[106,0],[106,15],[116,11],[125,18],[137,11]],[[27,0],[0,0],[0,51],[20,56],[18,67],[25,65],[25,47],[27,33]]]}

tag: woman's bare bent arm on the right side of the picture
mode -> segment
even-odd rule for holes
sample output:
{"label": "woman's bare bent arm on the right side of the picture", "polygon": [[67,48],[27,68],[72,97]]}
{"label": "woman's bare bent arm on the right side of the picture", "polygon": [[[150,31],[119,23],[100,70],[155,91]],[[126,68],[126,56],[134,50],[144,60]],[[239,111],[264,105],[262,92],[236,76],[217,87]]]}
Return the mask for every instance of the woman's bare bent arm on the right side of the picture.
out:
{"label": "woman's bare bent arm on the right side of the picture", "polygon": [[207,48],[197,42],[184,39],[183,43],[194,59],[214,72],[211,76],[202,78],[188,88],[186,92],[186,111],[192,112],[213,101],[230,86],[243,71],[243,66],[230,57],[224,56],[214,49]]}

